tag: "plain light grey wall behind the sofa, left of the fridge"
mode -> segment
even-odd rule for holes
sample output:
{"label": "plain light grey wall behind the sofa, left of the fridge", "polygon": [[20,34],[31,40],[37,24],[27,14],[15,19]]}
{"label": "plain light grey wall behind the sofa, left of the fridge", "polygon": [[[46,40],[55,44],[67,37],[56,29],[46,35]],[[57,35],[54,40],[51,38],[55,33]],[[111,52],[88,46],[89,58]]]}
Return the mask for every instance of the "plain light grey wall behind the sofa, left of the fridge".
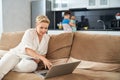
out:
{"label": "plain light grey wall behind the sofa, left of the fridge", "polygon": [[30,28],[30,0],[3,0],[3,31]]}

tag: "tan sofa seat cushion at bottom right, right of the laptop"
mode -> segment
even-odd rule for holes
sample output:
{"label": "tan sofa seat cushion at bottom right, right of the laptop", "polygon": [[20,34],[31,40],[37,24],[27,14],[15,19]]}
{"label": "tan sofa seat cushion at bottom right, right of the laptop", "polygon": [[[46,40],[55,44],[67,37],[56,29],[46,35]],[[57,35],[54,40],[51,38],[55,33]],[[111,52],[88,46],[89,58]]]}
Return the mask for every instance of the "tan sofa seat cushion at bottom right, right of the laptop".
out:
{"label": "tan sofa seat cushion at bottom right, right of the laptop", "polygon": [[[88,80],[120,80],[120,73],[118,72],[94,71],[85,69],[76,69],[75,72],[89,77],[90,79]],[[79,80],[80,79],[81,78],[79,78]]]}

